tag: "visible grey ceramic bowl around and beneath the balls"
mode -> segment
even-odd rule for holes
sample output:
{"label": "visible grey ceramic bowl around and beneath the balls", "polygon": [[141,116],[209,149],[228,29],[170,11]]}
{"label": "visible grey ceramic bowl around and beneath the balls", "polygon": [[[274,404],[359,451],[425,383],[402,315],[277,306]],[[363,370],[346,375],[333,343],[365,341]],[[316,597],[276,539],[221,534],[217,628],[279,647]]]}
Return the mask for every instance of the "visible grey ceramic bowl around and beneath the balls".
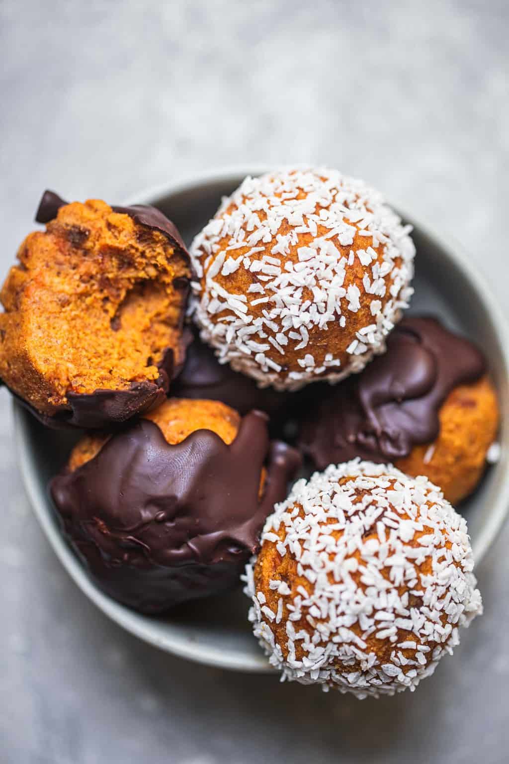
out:
{"label": "visible grey ceramic bowl around and beneath the balls", "polygon": [[[229,173],[148,195],[138,202],[152,203],[172,219],[186,243],[192,241],[214,215],[221,196],[231,193],[246,173]],[[444,244],[420,225],[414,225],[417,247],[415,295],[411,312],[433,312],[449,328],[462,332],[485,351],[502,407],[502,456],[491,467],[478,490],[460,510],[467,517],[476,561],[498,533],[509,504],[507,485],[507,338],[504,320],[490,296],[472,273],[468,256],[459,245]],[[130,632],[180,656],[243,671],[268,671],[269,666],[250,632],[248,602],[241,591],[180,607],[169,617],[144,617],[102,594],[60,535],[47,493],[47,482],[66,461],[76,435],[45,429],[14,403],[14,423],[21,471],[31,503],[53,549],[82,591],[98,607]]]}

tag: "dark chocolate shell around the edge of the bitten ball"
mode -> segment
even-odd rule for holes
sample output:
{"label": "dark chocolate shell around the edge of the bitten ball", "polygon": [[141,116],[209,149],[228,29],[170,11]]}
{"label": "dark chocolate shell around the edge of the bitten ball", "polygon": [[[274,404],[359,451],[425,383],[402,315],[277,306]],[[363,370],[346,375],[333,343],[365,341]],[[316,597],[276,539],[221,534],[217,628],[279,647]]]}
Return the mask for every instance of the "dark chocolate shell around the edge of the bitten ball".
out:
{"label": "dark chocolate shell around the edge of the bitten ball", "polygon": [[[60,207],[66,206],[67,203],[56,193],[53,193],[53,191],[45,191],[40,199],[35,216],[36,221],[39,223],[50,222],[56,218],[56,213]],[[138,225],[144,225],[147,228],[161,231],[176,248],[188,256],[185,244],[176,226],[159,209],[144,205],[112,207],[112,209],[115,212],[130,215]],[[179,279],[176,279],[174,286],[176,289],[187,291],[188,279],[179,277]],[[181,342],[185,346],[188,345],[190,339],[190,335],[185,333],[182,336]],[[184,355],[183,351],[180,355]],[[176,374],[179,374],[182,368],[181,365],[179,367],[175,366],[173,358],[173,351],[169,348],[159,363],[159,378],[154,382],[143,380],[133,383],[128,390],[99,389],[94,390],[93,393],[67,393],[67,403],[57,406],[55,413],[51,415],[37,411],[31,403],[28,403],[28,401],[20,396],[16,395],[15,397],[43,425],[53,429],[116,427],[124,424],[124,422],[127,422],[133,416],[147,413],[163,403],[169,390],[170,380]]]}

